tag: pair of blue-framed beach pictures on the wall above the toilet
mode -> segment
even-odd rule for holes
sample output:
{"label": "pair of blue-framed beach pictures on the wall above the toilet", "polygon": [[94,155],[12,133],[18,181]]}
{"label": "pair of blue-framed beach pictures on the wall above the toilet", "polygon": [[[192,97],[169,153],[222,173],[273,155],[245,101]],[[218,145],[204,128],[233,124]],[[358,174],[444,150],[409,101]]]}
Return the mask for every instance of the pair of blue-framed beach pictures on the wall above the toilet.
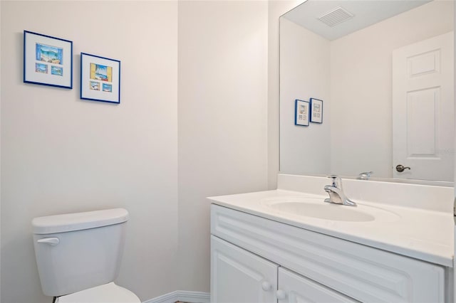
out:
{"label": "pair of blue-framed beach pictures on the wall above the toilet", "polygon": [[[73,89],[73,41],[24,31],[24,83]],[[81,53],[81,99],[120,103],[120,60]]]}

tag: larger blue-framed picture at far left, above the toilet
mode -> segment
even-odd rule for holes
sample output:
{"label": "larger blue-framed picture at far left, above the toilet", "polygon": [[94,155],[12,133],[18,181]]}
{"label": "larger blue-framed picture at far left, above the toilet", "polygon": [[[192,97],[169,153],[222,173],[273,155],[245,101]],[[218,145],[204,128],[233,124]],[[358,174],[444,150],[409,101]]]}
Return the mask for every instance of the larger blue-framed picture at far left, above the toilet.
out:
{"label": "larger blue-framed picture at far left, above the toilet", "polygon": [[24,83],[73,88],[73,42],[24,31]]}

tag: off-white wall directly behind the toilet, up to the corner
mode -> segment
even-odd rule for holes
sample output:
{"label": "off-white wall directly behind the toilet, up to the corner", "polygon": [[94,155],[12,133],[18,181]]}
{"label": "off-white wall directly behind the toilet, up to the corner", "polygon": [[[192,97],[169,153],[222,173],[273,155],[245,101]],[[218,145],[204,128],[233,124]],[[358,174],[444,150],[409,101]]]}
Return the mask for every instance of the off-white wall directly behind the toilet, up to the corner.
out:
{"label": "off-white wall directly behind the toilet, up to the corner", "polygon": [[[73,90],[22,82],[24,29],[73,41]],[[177,289],[177,2],[1,1],[1,47],[1,302],[50,302],[33,217],[111,207],[118,283]],[[81,51],[121,60],[120,105],[79,100]]]}

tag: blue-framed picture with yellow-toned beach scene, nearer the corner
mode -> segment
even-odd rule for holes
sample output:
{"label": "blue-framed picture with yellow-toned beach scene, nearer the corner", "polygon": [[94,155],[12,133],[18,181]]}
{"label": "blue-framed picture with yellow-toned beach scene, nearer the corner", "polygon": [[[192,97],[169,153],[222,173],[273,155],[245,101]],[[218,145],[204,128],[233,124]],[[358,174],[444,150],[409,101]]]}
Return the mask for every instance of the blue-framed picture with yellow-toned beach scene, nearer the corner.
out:
{"label": "blue-framed picture with yellow-toned beach scene, nearer the corner", "polygon": [[120,103],[120,61],[81,53],[81,99]]}

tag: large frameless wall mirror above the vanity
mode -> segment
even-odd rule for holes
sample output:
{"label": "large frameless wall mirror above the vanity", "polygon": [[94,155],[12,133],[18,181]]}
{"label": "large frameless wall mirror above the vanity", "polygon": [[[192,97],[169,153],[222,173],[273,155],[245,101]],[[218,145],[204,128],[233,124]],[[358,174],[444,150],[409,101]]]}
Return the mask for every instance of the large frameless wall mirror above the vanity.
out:
{"label": "large frameless wall mirror above the vanity", "polygon": [[281,16],[280,171],[451,185],[453,6],[308,0]]}

